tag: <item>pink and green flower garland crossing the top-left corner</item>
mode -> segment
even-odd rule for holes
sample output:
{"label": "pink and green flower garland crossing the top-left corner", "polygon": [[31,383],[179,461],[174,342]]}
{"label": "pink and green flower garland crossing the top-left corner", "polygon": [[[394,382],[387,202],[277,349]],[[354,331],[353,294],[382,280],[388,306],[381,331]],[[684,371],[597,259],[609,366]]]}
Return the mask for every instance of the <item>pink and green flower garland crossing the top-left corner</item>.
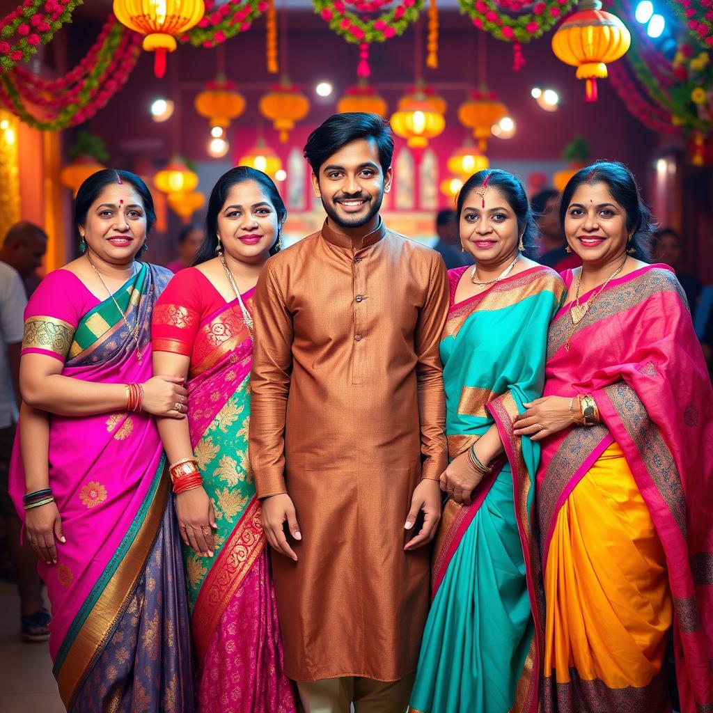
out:
{"label": "pink and green flower garland crossing the top-left corner", "polygon": [[48,43],[82,0],[25,0],[0,21],[0,68],[9,72]]}

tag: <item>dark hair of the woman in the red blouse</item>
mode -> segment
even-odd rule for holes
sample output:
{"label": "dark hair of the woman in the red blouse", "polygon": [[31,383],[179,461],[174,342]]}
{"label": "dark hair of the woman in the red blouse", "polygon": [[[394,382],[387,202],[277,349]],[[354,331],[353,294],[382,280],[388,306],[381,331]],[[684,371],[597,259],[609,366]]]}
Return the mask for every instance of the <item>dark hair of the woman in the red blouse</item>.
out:
{"label": "dark hair of the woman in the red blouse", "polygon": [[[218,246],[218,214],[222,210],[223,205],[225,205],[225,200],[227,200],[227,194],[230,193],[230,189],[234,185],[245,183],[245,181],[248,180],[254,180],[255,183],[260,185],[260,188],[262,188],[272,203],[272,207],[274,207],[275,212],[277,212],[277,229],[279,231],[284,219],[287,217],[287,208],[284,207],[282,196],[279,195],[279,191],[275,183],[272,182],[272,178],[270,178],[267,173],[262,173],[262,171],[257,170],[257,168],[252,168],[251,166],[236,166],[224,173],[217,180],[217,183],[213,186],[213,190],[210,192],[208,207],[205,213],[205,238],[200,244],[198,252],[195,254],[192,265],[200,265],[201,262],[211,260],[217,255],[215,248]],[[277,242],[275,242],[275,245],[270,248],[270,255],[275,255],[277,250],[279,250],[279,248],[277,247]]]}

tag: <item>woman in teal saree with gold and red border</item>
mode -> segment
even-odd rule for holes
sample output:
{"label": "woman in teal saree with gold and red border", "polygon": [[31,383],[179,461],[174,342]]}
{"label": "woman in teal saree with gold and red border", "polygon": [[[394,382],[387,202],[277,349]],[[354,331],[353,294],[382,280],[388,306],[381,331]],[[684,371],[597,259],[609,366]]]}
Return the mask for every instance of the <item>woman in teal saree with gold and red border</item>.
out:
{"label": "woman in teal saree with gold and red border", "polygon": [[513,436],[513,420],[542,393],[548,326],[564,285],[522,255],[535,227],[514,176],[471,176],[458,195],[458,220],[476,265],[448,272],[441,360],[451,465],[441,476],[448,499],[411,709],[535,713],[531,518],[539,450]]}

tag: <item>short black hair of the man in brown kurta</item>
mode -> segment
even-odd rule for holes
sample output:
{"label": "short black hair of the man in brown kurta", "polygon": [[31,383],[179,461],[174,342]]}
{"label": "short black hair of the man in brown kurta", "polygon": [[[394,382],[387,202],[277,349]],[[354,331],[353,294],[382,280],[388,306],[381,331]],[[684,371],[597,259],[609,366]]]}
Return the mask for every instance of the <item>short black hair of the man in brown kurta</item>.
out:
{"label": "short black hair of the man in brown kurta", "polygon": [[378,114],[364,111],[349,111],[343,114],[332,114],[322,125],[319,125],[307,139],[304,145],[304,158],[309,161],[314,173],[329,156],[357,139],[373,139],[379,149],[381,169],[391,166],[394,155],[394,135],[391,125]]}

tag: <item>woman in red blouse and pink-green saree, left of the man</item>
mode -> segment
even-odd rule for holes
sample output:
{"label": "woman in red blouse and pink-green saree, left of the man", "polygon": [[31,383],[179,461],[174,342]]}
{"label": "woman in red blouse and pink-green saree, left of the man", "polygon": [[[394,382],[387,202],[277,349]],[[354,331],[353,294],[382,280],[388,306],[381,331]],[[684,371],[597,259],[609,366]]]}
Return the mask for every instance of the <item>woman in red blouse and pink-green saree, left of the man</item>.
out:
{"label": "woman in red blouse and pink-green saree, left of the man", "polygon": [[160,419],[159,429],[182,491],[201,713],[295,710],[247,457],[252,294],[286,215],[267,175],[228,171],[210,195],[195,267],[173,277],[153,314],[155,370],[188,376],[188,421]]}

